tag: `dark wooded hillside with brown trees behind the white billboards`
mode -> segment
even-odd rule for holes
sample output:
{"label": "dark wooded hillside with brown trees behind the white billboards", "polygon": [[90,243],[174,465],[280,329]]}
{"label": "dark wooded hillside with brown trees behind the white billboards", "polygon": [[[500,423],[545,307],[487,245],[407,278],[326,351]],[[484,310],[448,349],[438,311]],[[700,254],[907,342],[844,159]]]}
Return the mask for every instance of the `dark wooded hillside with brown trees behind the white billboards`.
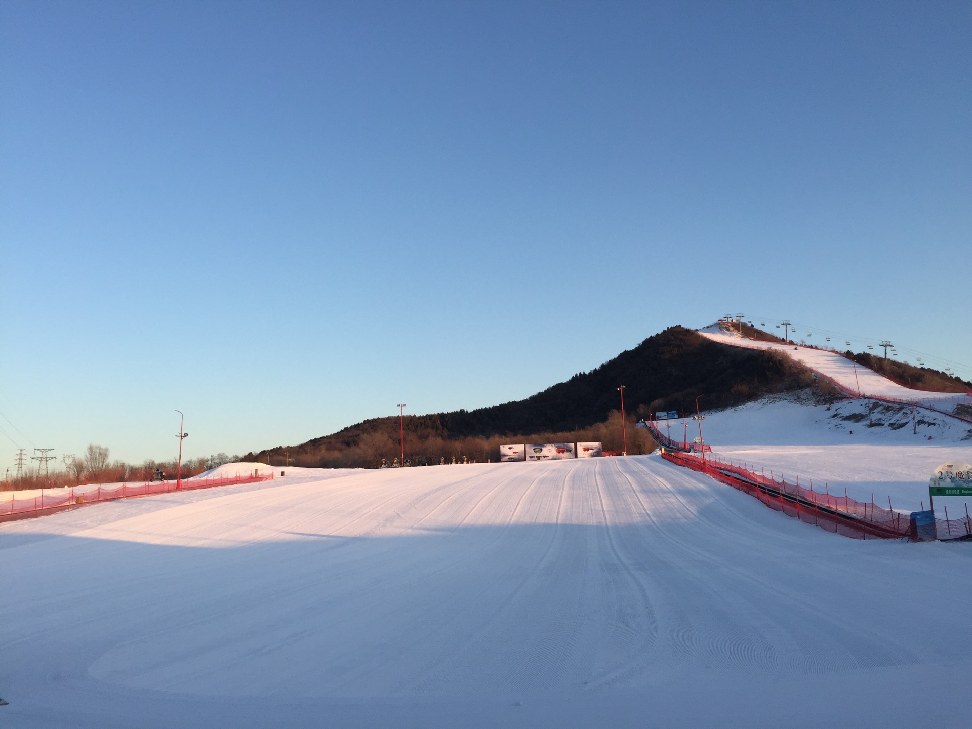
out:
{"label": "dark wooded hillside with brown trees behind the white billboards", "polygon": [[[654,410],[694,412],[696,396],[703,410],[727,407],[769,393],[816,385],[815,376],[789,358],[761,350],[719,344],[694,330],[671,327],[649,336],[637,347],[567,382],[528,399],[475,410],[456,410],[405,417],[405,456],[419,463],[497,458],[501,441],[541,442],[603,440],[608,450],[621,450],[617,386],[625,385],[629,419],[629,452],[650,447],[632,426]],[[613,414],[612,414],[613,413]],[[642,429],[638,429],[641,431]],[[600,436],[599,436],[600,435]],[[335,434],[295,446],[278,446],[248,454],[248,461],[300,466],[376,467],[399,452],[399,419],[375,418]]]}

